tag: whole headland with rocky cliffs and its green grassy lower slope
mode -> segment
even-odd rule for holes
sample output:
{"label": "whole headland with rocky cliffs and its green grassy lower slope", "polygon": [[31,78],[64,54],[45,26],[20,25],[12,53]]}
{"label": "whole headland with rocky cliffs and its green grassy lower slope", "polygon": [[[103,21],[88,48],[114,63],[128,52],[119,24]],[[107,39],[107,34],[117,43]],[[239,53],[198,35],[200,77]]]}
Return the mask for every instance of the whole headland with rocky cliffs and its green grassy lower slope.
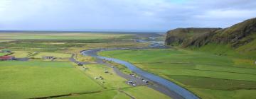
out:
{"label": "whole headland with rocky cliffs and its green grassy lower slope", "polygon": [[[166,45],[178,45],[218,54],[238,53],[255,58],[256,18],[230,28],[177,28],[166,34]],[[228,49],[228,50],[227,50]]]}

